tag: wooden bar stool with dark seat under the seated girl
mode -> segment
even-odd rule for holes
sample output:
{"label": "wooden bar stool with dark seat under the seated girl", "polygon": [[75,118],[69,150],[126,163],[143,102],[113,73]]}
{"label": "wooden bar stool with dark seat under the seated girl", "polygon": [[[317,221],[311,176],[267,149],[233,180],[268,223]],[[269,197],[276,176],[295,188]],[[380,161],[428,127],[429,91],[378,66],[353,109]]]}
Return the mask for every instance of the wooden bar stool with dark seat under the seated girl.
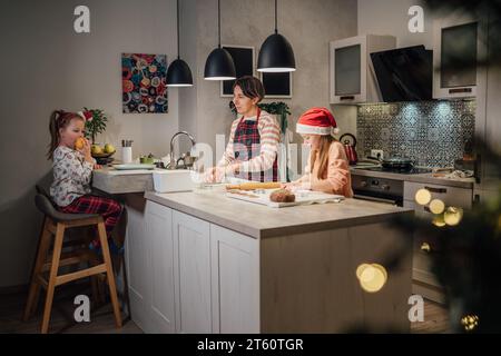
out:
{"label": "wooden bar stool with dark seat under the seated girl", "polygon": [[[37,189],[39,190],[39,189]],[[45,194],[37,194],[35,197],[37,208],[43,212],[43,229],[40,234],[40,241],[37,253],[37,259],[31,277],[31,285],[28,295],[28,303],[24,308],[23,319],[27,320],[33,313],[36,307],[40,287],[46,288],[47,298],[43,308],[43,318],[41,333],[46,334],[49,329],[50,313],[52,309],[52,299],[55,288],[62,284],[106,274],[109,286],[109,295],[115,314],[115,323],[117,327],[121,327],[121,315],[118,306],[117,288],[115,285],[115,275],[109,255],[108,238],[106,235],[105,221],[102,217],[97,214],[65,214],[58,211],[50,199]],[[70,227],[96,226],[98,230],[99,240],[101,243],[104,263],[97,264],[89,268],[79,269],[78,271],[58,275],[59,267],[69,265],[79,265],[82,261],[92,260],[95,254],[88,248],[85,250],[71,251],[69,254],[61,254],[65,230]],[[47,259],[55,236],[52,256]],[[92,257],[94,256],[94,257]],[[43,278],[43,273],[49,271],[49,278]]]}

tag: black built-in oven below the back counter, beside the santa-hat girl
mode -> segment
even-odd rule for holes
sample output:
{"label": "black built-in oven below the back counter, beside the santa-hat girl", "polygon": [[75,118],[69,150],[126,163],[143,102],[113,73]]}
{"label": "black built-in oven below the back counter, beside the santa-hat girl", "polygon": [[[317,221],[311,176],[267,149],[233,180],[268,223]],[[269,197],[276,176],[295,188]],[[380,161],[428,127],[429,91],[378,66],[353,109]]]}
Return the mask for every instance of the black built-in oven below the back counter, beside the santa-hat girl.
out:
{"label": "black built-in oven below the back counter, beside the santa-hat girl", "polygon": [[352,175],[353,198],[403,206],[403,180]]}

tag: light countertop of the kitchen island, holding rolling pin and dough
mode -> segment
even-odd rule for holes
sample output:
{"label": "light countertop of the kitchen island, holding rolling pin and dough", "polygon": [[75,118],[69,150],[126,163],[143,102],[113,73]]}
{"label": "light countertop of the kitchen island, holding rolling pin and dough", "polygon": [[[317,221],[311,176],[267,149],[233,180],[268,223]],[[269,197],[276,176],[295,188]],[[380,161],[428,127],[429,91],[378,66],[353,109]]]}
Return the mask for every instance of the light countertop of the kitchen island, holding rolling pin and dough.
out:
{"label": "light countertop of the kitchen island, holding rolling pin and dough", "polygon": [[223,191],[146,191],[145,198],[254,238],[383,222],[399,214],[413,214],[412,209],[358,199],[271,208],[228,198]]}

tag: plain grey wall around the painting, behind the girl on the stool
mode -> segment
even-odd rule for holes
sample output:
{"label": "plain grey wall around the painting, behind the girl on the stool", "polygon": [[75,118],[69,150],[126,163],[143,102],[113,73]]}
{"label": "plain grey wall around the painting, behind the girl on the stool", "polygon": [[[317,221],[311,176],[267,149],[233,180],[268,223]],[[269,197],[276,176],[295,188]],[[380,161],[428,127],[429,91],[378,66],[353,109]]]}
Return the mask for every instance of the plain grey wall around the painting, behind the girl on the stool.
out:
{"label": "plain grey wall around the painting, behind the girl on the stool", "polygon": [[[90,9],[90,33],[73,31],[73,9]],[[99,141],[134,139],[134,154],[166,155],[178,129],[177,90],[166,115],[121,113],[121,52],[176,56],[176,0],[4,0],[0,4],[0,287],[28,280],[41,217],[35,184],[50,180],[51,110],[101,108]],[[120,152],[118,152],[118,157]]]}

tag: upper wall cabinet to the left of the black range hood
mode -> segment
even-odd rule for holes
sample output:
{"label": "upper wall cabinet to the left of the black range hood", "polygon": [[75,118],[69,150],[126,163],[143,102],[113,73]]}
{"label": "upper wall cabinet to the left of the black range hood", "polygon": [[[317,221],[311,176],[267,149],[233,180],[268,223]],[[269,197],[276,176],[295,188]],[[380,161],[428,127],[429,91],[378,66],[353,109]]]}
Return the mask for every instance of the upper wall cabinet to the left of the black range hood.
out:
{"label": "upper wall cabinet to the left of the black range hood", "polygon": [[330,43],[331,103],[382,101],[372,52],[393,49],[393,36],[364,34]]}

